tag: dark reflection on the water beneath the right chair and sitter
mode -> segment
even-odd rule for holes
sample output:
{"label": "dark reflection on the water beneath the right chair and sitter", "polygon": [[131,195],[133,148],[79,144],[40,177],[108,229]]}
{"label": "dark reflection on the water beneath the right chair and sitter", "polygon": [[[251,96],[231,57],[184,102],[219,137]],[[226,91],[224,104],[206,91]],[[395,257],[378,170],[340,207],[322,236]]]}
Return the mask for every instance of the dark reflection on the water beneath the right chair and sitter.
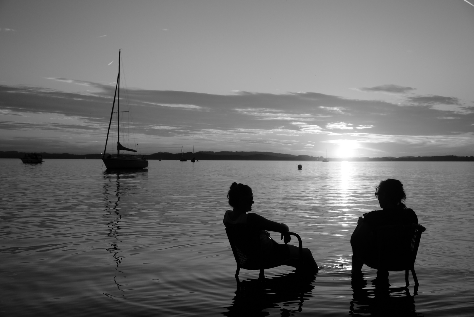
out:
{"label": "dark reflection on the water beneath the right chair and sitter", "polygon": [[407,287],[388,288],[387,285],[366,288],[364,274],[352,278],[353,298],[350,302],[351,316],[414,317],[415,296]]}

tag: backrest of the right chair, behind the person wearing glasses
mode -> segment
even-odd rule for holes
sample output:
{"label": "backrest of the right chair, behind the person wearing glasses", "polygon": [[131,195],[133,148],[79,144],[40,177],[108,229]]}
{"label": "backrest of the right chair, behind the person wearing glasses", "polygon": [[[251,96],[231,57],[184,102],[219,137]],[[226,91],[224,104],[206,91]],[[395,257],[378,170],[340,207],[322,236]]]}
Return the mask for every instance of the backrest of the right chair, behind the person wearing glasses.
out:
{"label": "backrest of the right chair, behind the person wearing glasses", "polygon": [[420,224],[398,224],[378,227],[374,234],[377,269],[399,271],[412,269],[418,252]]}

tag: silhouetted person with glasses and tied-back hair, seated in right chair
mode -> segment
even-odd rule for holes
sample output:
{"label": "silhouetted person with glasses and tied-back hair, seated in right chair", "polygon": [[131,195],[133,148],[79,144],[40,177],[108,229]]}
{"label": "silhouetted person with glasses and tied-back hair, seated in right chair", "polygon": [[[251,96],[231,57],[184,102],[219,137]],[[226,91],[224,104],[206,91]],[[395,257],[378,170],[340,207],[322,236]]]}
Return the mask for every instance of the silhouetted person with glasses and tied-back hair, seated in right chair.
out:
{"label": "silhouetted person with glasses and tied-back hair, seated in right chair", "polygon": [[[375,197],[379,200],[383,210],[375,210],[359,217],[357,227],[351,236],[352,245],[352,273],[360,274],[362,266],[376,266],[375,230],[384,225],[418,224],[418,217],[413,209],[404,204],[407,196],[403,184],[398,179],[388,178],[376,187]],[[377,270],[379,280],[388,277],[387,270]]]}

